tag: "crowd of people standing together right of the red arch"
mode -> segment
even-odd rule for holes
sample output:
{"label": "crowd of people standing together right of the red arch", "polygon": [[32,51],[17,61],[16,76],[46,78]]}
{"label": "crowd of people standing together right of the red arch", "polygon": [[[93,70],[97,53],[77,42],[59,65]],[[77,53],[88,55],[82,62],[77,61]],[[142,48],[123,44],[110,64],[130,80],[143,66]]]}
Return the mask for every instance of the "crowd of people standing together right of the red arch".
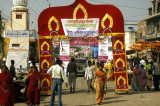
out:
{"label": "crowd of people standing together right of the red arch", "polygon": [[133,67],[132,89],[151,90],[152,82],[154,91],[159,91],[160,63],[159,59],[149,63],[148,60],[135,61]]}

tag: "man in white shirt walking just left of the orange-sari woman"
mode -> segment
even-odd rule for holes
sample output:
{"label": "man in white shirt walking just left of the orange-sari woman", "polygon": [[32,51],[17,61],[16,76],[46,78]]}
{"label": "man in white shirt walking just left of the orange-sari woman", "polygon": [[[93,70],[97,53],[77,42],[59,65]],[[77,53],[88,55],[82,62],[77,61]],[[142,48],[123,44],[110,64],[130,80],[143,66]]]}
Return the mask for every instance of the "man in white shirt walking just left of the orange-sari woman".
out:
{"label": "man in white shirt walking just left of the orange-sari woman", "polygon": [[92,79],[95,72],[94,70],[95,70],[95,67],[92,65],[91,61],[88,61],[88,66],[86,68],[85,75],[84,75],[84,79],[85,78],[87,79],[88,93],[90,92],[90,89],[94,91],[94,88],[92,86]]}

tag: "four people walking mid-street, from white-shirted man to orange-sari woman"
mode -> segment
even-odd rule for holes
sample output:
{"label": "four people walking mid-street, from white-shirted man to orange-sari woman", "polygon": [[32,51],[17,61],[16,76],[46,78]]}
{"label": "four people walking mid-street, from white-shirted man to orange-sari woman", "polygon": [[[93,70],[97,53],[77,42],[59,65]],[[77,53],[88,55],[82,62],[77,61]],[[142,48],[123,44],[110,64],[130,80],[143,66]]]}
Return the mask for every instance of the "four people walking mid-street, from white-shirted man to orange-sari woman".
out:
{"label": "four people walking mid-street, from white-shirted man to orange-sari woman", "polygon": [[[87,79],[87,85],[88,85],[88,91],[90,92],[90,89],[94,91],[94,82],[96,82],[96,92],[97,92],[97,104],[101,104],[103,100],[103,95],[105,94],[104,86],[107,83],[107,74],[103,70],[103,64],[95,65],[94,63],[91,63],[91,61],[88,61],[88,66],[85,71],[85,79]],[[75,59],[71,58],[71,61],[69,62],[67,66],[67,77],[64,73],[64,68],[62,66],[62,61],[57,59],[56,64],[51,66],[49,70],[47,71],[48,74],[52,75],[52,95],[51,95],[51,101],[50,106],[54,106],[55,103],[55,92],[58,92],[58,106],[62,106],[61,101],[61,92],[62,92],[62,82],[64,81],[66,84],[66,87],[68,87],[69,83],[69,89],[70,93],[75,93],[76,88],[76,78],[77,78],[77,65],[75,63]],[[67,81],[68,78],[68,81]],[[68,83],[67,83],[68,82]]]}

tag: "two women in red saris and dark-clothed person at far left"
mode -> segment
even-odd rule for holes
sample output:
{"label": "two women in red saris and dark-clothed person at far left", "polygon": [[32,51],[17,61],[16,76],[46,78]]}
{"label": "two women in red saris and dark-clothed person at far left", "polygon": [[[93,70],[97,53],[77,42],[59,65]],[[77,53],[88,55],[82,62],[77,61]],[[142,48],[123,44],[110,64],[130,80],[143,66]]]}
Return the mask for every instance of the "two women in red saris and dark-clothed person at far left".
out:
{"label": "two women in red saris and dark-clothed person at far left", "polygon": [[[15,102],[15,86],[13,78],[15,76],[14,60],[11,60],[10,70],[6,65],[1,66],[0,73],[0,105],[14,106]],[[40,73],[36,66],[30,68],[30,72],[26,81],[25,93],[28,105],[40,104]]]}

